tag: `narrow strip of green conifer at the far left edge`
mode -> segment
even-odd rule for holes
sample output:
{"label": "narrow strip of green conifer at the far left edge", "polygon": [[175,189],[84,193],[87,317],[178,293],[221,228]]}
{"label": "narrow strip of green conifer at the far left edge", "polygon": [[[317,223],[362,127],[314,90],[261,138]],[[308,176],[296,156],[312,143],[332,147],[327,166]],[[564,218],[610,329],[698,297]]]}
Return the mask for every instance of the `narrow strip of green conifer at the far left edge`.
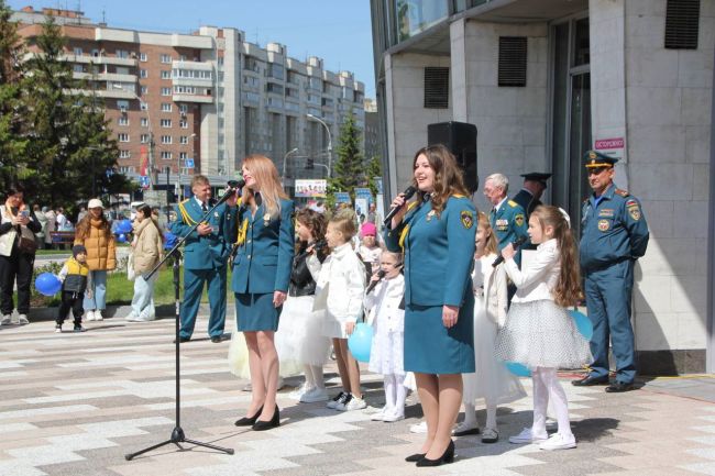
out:
{"label": "narrow strip of green conifer at the far left edge", "polygon": [[23,103],[22,57],[25,53],[18,35],[18,24],[11,20],[12,10],[0,0],[0,180],[7,185],[25,170],[23,134],[26,109]]}

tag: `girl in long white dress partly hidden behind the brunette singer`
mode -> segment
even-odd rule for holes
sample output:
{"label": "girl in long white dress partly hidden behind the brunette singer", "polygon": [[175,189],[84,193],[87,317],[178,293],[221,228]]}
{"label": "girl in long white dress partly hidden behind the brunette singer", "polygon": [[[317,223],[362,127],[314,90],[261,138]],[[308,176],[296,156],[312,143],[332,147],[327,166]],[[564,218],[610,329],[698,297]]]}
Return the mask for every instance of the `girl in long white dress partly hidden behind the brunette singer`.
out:
{"label": "girl in long white dress partly hidden behind the brunette singer", "polygon": [[486,214],[480,212],[474,253],[474,374],[463,374],[464,421],[454,429],[455,436],[477,434],[475,400],[484,399],[486,424],[482,432],[483,443],[496,443],[499,433],[496,425],[496,406],[526,397],[519,379],[507,370],[495,355],[496,333],[504,325],[508,307],[506,273],[504,265],[496,267],[496,237]]}

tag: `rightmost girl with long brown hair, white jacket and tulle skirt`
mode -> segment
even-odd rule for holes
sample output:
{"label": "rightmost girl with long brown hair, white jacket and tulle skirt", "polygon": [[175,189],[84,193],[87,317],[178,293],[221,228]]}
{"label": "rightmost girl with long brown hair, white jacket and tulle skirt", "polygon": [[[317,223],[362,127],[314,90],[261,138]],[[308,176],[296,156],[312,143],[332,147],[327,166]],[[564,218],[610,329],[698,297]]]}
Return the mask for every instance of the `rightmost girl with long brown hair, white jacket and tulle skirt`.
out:
{"label": "rightmost girl with long brown hair, white jacket and tulle skirt", "polygon": [[[559,383],[559,367],[576,368],[591,362],[588,342],[564,308],[581,297],[576,245],[569,215],[550,206],[537,207],[529,218],[529,237],[538,245],[521,269],[514,261],[514,246],[502,250],[506,273],[517,291],[499,331],[496,356],[531,369],[534,423],[509,438],[512,443],[540,443],[541,450],[576,446],[571,432],[566,395]],[[559,422],[550,438],[546,429],[549,398]]]}

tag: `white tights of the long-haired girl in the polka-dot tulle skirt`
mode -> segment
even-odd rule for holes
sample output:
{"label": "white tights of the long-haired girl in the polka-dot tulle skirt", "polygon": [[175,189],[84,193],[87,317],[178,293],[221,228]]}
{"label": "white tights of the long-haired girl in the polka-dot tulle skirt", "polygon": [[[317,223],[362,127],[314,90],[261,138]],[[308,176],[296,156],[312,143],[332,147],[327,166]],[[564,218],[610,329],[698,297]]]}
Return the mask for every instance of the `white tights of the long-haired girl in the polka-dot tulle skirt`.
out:
{"label": "white tights of the long-haired girl in the polka-dot tulle skirt", "polygon": [[[552,367],[537,367],[531,372],[534,380],[534,424],[531,434],[546,434],[547,409],[549,403],[553,408],[559,422],[559,433],[571,435],[569,421],[569,401],[563,387],[559,383],[557,369]],[[550,397],[550,398],[549,398]],[[551,400],[551,401],[549,401]]]}

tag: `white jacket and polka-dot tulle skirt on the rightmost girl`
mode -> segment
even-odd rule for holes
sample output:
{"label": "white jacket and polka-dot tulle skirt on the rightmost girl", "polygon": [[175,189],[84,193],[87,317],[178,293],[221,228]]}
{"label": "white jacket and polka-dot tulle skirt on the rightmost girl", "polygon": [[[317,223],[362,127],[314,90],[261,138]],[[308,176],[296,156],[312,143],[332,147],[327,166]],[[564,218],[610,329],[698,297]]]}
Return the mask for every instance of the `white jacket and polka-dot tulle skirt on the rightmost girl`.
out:
{"label": "white jacket and polka-dot tulle skirt on the rightmost girl", "polygon": [[556,240],[541,243],[531,259],[507,259],[506,270],[517,287],[506,323],[497,336],[496,354],[534,369],[580,368],[592,361],[588,341],[551,295],[559,280]]}

